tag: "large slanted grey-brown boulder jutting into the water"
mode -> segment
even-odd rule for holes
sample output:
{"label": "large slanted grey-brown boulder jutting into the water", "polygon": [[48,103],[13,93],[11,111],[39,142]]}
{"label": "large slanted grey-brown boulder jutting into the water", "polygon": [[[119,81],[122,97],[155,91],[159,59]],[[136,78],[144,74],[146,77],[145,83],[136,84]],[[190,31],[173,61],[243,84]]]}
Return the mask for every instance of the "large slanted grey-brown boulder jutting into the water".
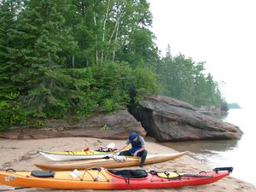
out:
{"label": "large slanted grey-brown boulder jutting into the water", "polygon": [[243,134],[236,125],[199,113],[189,103],[166,96],[148,96],[131,113],[159,142],[236,139]]}

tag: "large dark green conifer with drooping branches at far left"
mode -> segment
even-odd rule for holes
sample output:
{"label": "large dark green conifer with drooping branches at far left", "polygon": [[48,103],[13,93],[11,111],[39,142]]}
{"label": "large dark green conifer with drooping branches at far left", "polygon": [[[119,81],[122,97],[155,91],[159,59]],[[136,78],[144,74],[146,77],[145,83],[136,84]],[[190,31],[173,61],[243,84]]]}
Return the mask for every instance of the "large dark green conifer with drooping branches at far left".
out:
{"label": "large dark green conifer with drooping branches at far left", "polygon": [[25,1],[16,30],[11,32],[15,81],[22,83],[20,99],[39,117],[45,116],[46,108],[62,106],[55,90],[62,89],[57,76],[63,74],[55,71],[66,66],[76,47],[65,27],[67,5],[66,0]]}

